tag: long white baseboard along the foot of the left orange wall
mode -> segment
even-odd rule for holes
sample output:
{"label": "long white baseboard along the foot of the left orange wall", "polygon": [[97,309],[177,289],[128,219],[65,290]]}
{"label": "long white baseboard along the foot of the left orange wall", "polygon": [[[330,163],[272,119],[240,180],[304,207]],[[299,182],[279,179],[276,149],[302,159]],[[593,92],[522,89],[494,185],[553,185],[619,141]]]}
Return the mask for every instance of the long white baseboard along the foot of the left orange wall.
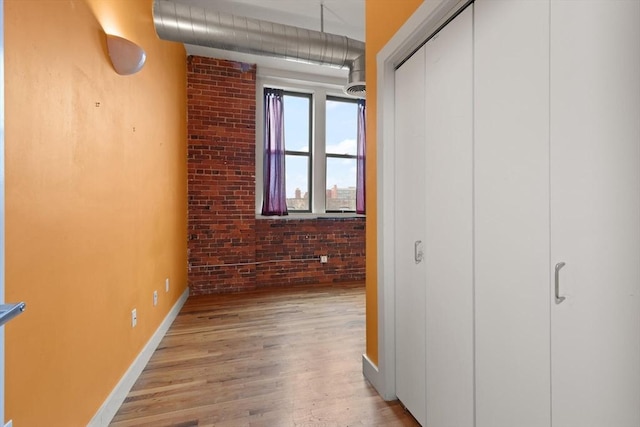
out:
{"label": "long white baseboard along the foot of the left orange wall", "polygon": [[127,372],[122,376],[118,384],[115,386],[111,394],[104,401],[98,412],[93,416],[87,427],[107,427],[113,417],[120,409],[122,402],[126,399],[129,390],[135,384],[136,380],[144,370],[145,366],[151,359],[153,352],[156,350],[160,341],[169,330],[169,327],[173,323],[180,309],[184,305],[185,301],[189,297],[189,288],[185,289],[178,301],[173,305],[167,316],[164,318],[156,332],[151,336],[147,344],[144,346],[140,354],[133,361]]}

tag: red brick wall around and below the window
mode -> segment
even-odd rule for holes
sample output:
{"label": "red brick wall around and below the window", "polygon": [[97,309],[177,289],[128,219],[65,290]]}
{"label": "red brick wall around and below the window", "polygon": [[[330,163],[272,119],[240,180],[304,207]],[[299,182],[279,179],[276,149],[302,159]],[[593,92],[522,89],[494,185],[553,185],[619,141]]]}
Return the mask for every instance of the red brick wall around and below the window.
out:
{"label": "red brick wall around and below the window", "polygon": [[256,220],[255,66],[187,61],[191,294],[364,280],[364,218]]}

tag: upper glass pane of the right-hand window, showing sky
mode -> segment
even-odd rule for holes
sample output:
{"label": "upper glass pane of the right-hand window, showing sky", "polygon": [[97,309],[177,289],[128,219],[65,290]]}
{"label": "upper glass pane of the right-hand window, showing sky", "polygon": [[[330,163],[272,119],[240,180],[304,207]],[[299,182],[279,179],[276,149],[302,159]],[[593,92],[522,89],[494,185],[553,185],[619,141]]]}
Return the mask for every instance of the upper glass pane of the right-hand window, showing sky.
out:
{"label": "upper glass pane of the right-hand window, showing sky", "polygon": [[[327,99],[327,154],[357,154],[358,104]],[[329,182],[327,180],[327,182]]]}

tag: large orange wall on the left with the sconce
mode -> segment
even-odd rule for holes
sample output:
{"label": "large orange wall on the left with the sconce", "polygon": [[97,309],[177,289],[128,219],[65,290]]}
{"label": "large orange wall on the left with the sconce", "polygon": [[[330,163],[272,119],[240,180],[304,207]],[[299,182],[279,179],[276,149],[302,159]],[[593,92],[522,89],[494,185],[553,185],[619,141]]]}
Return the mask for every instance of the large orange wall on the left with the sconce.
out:
{"label": "large orange wall on the left with the sconce", "polygon": [[[151,0],[4,4],[6,300],[27,303],[6,418],[81,426],[186,289],[185,52]],[[115,73],[101,25],[146,50],[141,72]]]}

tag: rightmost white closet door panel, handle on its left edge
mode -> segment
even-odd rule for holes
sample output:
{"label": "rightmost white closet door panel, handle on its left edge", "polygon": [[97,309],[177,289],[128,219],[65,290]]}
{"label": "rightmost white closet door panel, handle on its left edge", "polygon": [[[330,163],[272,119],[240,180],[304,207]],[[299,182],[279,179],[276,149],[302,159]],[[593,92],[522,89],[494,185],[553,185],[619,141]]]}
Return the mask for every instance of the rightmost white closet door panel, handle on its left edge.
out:
{"label": "rightmost white closet door panel, handle on its left edge", "polygon": [[551,196],[553,426],[638,427],[637,0],[552,2]]}

